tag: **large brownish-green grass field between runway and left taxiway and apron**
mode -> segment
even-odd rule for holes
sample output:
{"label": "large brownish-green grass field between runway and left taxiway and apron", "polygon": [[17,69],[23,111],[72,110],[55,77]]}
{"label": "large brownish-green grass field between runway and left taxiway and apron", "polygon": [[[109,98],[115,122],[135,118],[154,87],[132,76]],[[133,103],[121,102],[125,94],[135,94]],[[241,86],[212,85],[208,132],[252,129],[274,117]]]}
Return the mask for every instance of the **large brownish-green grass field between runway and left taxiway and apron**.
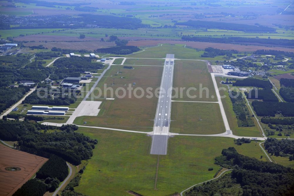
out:
{"label": "large brownish-green grass field between runway and left taxiway and apron", "polygon": [[[161,74],[163,67],[157,66],[133,66],[134,69],[123,69],[123,66],[116,65],[109,69],[97,87],[101,89],[101,94],[98,90],[94,90],[88,100],[97,98],[111,98],[114,100],[101,99],[101,104],[98,116],[82,116],[77,117],[75,124],[82,125],[87,121],[89,126],[97,127],[111,127],[117,129],[128,129],[137,131],[152,131],[157,106],[157,97],[147,97],[147,88],[152,88],[150,92],[155,94],[155,89],[160,86]],[[114,82],[114,84],[113,84]],[[136,85],[133,85],[133,83]],[[104,92],[104,84],[113,89],[113,96],[111,91]],[[128,85],[132,84],[134,90],[131,90],[129,98]],[[136,98],[134,93],[136,87],[140,87],[144,91],[142,98]],[[123,90],[126,90],[126,97],[123,95]],[[115,91],[118,97],[115,96]],[[105,96],[104,97],[104,93]],[[136,91],[137,95],[141,95],[141,90]],[[101,97],[99,97],[99,95]]]}

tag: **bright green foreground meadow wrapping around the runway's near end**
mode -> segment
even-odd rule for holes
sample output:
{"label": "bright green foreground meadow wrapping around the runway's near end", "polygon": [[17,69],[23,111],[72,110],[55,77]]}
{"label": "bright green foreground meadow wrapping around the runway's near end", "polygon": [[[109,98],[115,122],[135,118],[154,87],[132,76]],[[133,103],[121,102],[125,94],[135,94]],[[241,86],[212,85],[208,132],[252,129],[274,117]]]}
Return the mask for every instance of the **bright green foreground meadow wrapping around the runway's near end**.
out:
{"label": "bright green foreground meadow wrapping around the runway's near end", "polygon": [[[77,192],[86,195],[164,196],[181,192],[193,184],[213,178],[219,169],[214,158],[223,148],[259,158],[260,147],[253,143],[237,146],[232,138],[176,136],[168,140],[167,155],[160,155],[158,179],[154,190],[158,155],[150,155],[151,137],[145,134],[80,127],[77,132],[98,139],[93,157],[83,173]],[[263,158],[262,160],[264,160]],[[213,171],[208,171],[213,167]],[[100,170],[100,171],[99,171]]]}

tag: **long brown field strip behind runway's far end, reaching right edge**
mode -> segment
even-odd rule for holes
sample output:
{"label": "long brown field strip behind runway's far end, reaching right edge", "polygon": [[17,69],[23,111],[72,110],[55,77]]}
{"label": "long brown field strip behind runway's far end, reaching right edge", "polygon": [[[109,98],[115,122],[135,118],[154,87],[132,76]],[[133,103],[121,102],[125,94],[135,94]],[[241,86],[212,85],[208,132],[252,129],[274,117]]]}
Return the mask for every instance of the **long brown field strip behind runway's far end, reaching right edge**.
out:
{"label": "long brown field strip behind runway's far end, reaching right edge", "polygon": [[287,52],[294,52],[293,48],[283,48],[283,47],[266,47],[266,46],[253,46],[253,45],[238,45],[238,44],[222,44],[222,43],[210,43],[210,42],[196,42],[196,41],[174,41],[174,40],[136,40],[129,41],[128,46],[156,46],[158,44],[186,44],[197,49],[205,49],[208,47],[223,49],[223,50],[238,50],[242,52],[251,52],[259,49],[265,50],[281,50]]}

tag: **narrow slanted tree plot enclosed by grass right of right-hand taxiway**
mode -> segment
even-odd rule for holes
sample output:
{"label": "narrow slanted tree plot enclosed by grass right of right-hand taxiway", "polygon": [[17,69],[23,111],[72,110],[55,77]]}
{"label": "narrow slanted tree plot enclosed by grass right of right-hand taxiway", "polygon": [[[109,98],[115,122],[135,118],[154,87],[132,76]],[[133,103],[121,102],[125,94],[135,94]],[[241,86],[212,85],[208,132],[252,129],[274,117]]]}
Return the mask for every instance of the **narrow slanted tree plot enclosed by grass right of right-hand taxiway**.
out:
{"label": "narrow slanted tree plot enclosed by grass right of right-hand taxiway", "polygon": [[233,111],[235,112],[236,118],[238,119],[238,127],[254,127],[254,122],[251,118],[242,94],[236,96],[237,92],[230,91],[230,93],[232,95],[230,96],[230,99],[233,103]]}

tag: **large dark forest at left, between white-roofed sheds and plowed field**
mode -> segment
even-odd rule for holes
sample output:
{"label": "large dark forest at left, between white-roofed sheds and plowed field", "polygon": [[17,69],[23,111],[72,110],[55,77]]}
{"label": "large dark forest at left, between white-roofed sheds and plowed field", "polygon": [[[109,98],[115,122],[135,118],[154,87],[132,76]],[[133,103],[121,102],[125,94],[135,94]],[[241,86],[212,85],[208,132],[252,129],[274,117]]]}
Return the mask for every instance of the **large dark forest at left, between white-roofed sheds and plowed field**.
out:
{"label": "large dark forest at left, between white-roofed sheds and plowed field", "polygon": [[76,125],[55,127],[35,122],[0,120],[0,139],[18,141],[19,149],[31,154],[43,157],[57,155],[79,165],[81,160],[91,158],[97,140],[74,132],[77,129]]}

